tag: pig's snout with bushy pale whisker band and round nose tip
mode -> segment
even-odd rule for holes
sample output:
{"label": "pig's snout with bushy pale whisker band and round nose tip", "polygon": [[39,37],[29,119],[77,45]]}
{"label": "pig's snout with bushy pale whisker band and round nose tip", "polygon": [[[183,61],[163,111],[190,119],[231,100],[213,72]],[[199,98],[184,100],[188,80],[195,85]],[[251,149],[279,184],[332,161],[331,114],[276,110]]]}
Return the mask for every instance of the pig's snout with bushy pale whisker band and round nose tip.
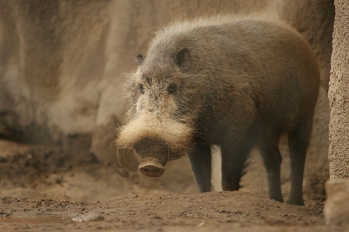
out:
{"label": "pig's snout with bushy pale whisker band and round nose tip", "polygon": [[118,138],[121,147],[133,148],[139,161],[139,171],[149,177],[159,177],[168,161],[186,154],[192,144],[191,127],[174,120],[140,116],[123,127]]}

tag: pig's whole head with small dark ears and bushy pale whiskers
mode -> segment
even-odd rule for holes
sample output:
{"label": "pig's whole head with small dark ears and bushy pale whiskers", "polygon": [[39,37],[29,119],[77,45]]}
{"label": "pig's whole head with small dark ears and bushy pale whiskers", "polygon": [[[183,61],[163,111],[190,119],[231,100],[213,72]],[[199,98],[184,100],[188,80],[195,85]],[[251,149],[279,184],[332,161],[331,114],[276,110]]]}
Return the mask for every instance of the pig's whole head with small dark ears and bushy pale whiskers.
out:
{"label": "pig's whole head with small dark ears and bushy pale whiskers", "polygon": [[164,51],[157,47],[136,60],[139,67],[128,77],[127,124],[120,129],[117,144],[133,148],[142,174],[158,177],[168,161],[193,146],[200,107],[195,99],[200,91],[190,74],[187,48]]}

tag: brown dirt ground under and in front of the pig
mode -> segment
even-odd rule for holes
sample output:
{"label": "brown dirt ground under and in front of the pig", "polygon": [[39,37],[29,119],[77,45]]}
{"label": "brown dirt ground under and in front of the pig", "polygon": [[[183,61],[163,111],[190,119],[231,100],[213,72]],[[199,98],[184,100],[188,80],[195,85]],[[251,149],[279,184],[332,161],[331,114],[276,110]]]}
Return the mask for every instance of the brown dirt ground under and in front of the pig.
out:
{"label": "brown dirt ground under and in front of the pig", "polygon": [[[147,186],[93,154],[0,140],[0,231],[344,231],[323,202],[290,206],[249,192]],[[307,194],[307,193],[305,193]],[[321,199],[321,198],[319,198]]]}

